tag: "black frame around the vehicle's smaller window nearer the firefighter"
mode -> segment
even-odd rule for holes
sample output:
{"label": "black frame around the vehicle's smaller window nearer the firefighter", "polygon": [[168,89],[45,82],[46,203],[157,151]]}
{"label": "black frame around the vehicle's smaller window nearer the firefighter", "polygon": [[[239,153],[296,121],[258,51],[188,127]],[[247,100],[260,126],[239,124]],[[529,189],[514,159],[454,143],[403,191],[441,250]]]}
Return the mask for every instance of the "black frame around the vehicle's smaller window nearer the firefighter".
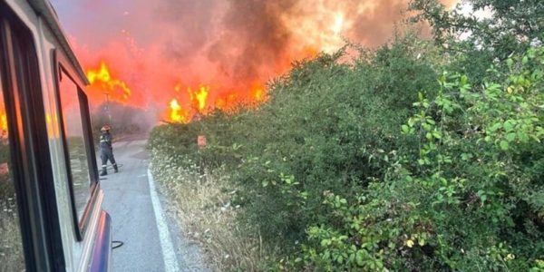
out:
{"label": "black frame around the vehicle's smaller window nearer the firefighter", "polygon": [[[56,111],[59,115],[59,132],[60,138],[63,142],[63,160],[66,165],[66,174],[68,181],[68,188],[70,191],[71,209],[73,214],[73,227],[78,241],[83,241],[87,229],[89,228],[89,221],[91,220],[92,211],[96,207],[98,192],[100,191],[100,182],[98,179],[98,168],[96,163],[96,154],[94,151],[94,142],[92,140],[92,126],[91,126],[91,113],[89,111],[89,104],[87,95],[83,92],[83,81],[79,80],[77,74],[73,71],[72,65],[68,59],[57,49],[52,50],[53,55],[53,73],[54,73],[54,97],[56,101]],[[92,185],[89,187],[90,197],[87,200],[85,209],[83,209],[83,215],[81,219],[77,215],[77,209],[75,205],[75,194],[73,189],[73,175],[72,166],[70,164],[70,154],[68,151],[68,141],[66,139],[66,130],[64,128],[64,112],[61,103],[61,90],[60,80],[62,74],[68,76],[68,78],[77,86],[78,102],[80,103],[80,116],[83,124],[83,141],[85,143],[85,150],[87,151],[87,162],[89,168],[89,180]]]}

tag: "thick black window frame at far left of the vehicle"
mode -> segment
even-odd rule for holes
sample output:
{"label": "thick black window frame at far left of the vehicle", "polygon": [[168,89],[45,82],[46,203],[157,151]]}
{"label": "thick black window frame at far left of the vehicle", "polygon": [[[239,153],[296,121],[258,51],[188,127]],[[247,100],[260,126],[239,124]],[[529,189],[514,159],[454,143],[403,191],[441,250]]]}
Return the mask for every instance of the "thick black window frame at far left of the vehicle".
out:
{"label": "thick black window frame at far left of the vehicle", "polygon": [[27,271],[65,269],[44,110],[38,44],[0,2],[0,73]]}

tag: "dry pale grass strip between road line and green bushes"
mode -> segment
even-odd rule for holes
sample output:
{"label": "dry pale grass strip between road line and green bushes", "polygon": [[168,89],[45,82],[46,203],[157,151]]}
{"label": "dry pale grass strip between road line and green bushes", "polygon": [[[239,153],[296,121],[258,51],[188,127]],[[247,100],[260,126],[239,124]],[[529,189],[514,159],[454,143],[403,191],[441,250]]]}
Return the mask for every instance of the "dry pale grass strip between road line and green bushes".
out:
{"label": "dry pale grass strip between road line and green bushes", "polygon": [[[164,158],[153,154],[153,158]],[[153,176],[169,199],[168,210],[179,219],[186,238],[199,242],[214,271],[262,271],[270,250],[257,234],[238,228],[241,209],[232,206],[236,192],[228,175],[199,174],[197,167],[179,168],[173,159],[153,160]]]}

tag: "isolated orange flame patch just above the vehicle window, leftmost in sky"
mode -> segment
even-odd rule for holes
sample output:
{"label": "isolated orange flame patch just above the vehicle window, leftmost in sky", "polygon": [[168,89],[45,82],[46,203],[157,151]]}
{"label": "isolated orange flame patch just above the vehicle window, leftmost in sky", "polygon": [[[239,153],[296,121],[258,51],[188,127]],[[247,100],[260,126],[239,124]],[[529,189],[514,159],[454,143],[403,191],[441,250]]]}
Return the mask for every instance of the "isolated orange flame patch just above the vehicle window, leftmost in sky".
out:
{"label": "isolated orange flame patch just above the vehicle window, leftmost in sky", "polygon": [[121,80],[112,78],[110,69],[104,61],[100,63],[100,67],[95,70],[87,71],[87,78],[91,87],[101,89],[103,92],[112,95],[112,100],[128,102],[131,98],[131,89]]}

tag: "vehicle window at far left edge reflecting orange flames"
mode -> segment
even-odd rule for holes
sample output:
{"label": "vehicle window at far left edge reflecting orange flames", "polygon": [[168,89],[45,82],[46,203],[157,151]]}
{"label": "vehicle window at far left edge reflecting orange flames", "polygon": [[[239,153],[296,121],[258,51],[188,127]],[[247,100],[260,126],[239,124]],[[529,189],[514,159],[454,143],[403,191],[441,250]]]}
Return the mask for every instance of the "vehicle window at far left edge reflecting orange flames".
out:
{"label": "vehicle window at far left edge reflecting orange flames", "polygon": [[[1,82],[1,81],[0,81]],[[0,271],[24,270],[23,241],[15,184],[10,161],[10,142],[5,111],[4,91],[0,84]]]}

